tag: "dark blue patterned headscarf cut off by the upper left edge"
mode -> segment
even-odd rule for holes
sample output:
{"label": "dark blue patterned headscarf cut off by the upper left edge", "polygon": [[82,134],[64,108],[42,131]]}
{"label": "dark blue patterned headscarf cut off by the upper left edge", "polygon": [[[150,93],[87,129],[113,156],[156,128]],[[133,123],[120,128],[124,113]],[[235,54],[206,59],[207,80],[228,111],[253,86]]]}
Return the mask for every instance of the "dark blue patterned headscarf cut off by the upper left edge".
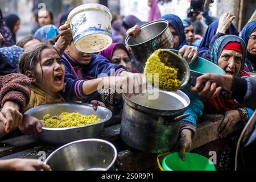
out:
{"label": "dark blue patterned headscarf cut off by the upper left edge", "polygon": [[3,20],[3,14],[1,10],[0,10],[0,32],[3,35],[3,38],[5,38],[3,42],[0,44],[0,47],[9,47],[15,44],[10,28],[6,26],[5,21]]}

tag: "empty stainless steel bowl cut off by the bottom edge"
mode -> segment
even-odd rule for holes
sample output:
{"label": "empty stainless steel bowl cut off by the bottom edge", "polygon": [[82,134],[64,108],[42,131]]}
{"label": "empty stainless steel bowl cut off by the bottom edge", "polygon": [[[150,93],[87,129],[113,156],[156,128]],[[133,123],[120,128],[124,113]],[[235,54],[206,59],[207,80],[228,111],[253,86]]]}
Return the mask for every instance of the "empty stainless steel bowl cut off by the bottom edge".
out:
{"label": "empty stainless steel bowl cut off by the bottom edge", "polygon": [[44,163],[53,171],[116,170],[117,150],[106,140],[84,139],[58,148]]}

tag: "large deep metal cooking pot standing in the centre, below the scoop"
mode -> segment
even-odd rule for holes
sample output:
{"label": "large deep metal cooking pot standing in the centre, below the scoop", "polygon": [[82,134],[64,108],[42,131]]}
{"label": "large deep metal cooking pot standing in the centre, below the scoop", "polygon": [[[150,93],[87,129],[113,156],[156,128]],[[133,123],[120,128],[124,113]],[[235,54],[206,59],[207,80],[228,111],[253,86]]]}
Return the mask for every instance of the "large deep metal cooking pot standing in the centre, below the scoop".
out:
{"label": "large deep metal cooking pot standing in the centre, below the scoop", "polygon": [[[150,100],[154,94],[159,95]],[[123,94],[123,100],[120,136],[127,146],[157,154],[175,147],[180,121],[189,115],[182,115],[190,104],[186,94],[148,90],[143,96]]]}

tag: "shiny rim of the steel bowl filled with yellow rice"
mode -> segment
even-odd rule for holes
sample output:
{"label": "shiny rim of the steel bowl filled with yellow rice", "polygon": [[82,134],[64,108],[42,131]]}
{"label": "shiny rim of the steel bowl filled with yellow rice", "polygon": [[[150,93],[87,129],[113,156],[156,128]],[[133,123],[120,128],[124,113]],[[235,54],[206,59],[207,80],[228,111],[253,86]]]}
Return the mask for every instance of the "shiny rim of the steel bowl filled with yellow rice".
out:
{"label": "shiny rim of the steel bowl filled with yellow rice", "polygon": [[[69,102],[65,102],[65,103],[59,103],[59,104],[47,104],[47,105],[81,105],[81,106],[90,106],[92,107],[91,104],[79,104],[79,103],[69,103]],[[40,106],[36,106],[36,107],[33,107],[31,109],[39,109],[40,107],[43,107],[43,106],[46,106],[46,105],[40,105]],[[92,124],[89,124],[89,125],[84,125],[84,126],[77,126],[77,127],[63,127],[63,128],[51,128],[51,127],[43,127],[43,131],[66,131],[66,130],[75,130],[75,129],[81,129],[81,128],[84,128],[84,127],[89,127],[89,126],[93,126],[93,125],[100,125],[102,123],[105,123],[107,121],[109,121],[109,119],[112,118],[112,111],[110,111],[108,108],[105,108],[105,107],[101,107],[101,106],[98,106],[98,108],[101,108],[101,109],[104,109],[104,110],[107,110],[109,112],[109,115],[107,115],[107,117],[105,119],[102,119],[102,121],[100,122],[96,122],[96,123],[92,123]],[[29,111],[29,110],[27,110]],[[26,111],[26,113],[27,113]],[[26,114],[24,113],[24,114]],[[29,114],[29,113],[28,113]]]}

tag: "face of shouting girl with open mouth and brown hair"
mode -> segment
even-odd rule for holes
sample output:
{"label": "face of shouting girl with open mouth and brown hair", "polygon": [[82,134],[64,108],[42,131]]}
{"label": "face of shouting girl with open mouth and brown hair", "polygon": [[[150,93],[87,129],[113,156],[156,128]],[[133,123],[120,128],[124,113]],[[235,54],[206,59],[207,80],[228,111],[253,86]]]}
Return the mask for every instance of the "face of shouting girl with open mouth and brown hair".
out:
{"label": "face of shouting girl with open mouth and brown hair", "polygon": [[40,55],[41,65],[36,65],[36,82],[41,89],[55,96],[64,88],[65,67],[55,49],[44,49]]}

